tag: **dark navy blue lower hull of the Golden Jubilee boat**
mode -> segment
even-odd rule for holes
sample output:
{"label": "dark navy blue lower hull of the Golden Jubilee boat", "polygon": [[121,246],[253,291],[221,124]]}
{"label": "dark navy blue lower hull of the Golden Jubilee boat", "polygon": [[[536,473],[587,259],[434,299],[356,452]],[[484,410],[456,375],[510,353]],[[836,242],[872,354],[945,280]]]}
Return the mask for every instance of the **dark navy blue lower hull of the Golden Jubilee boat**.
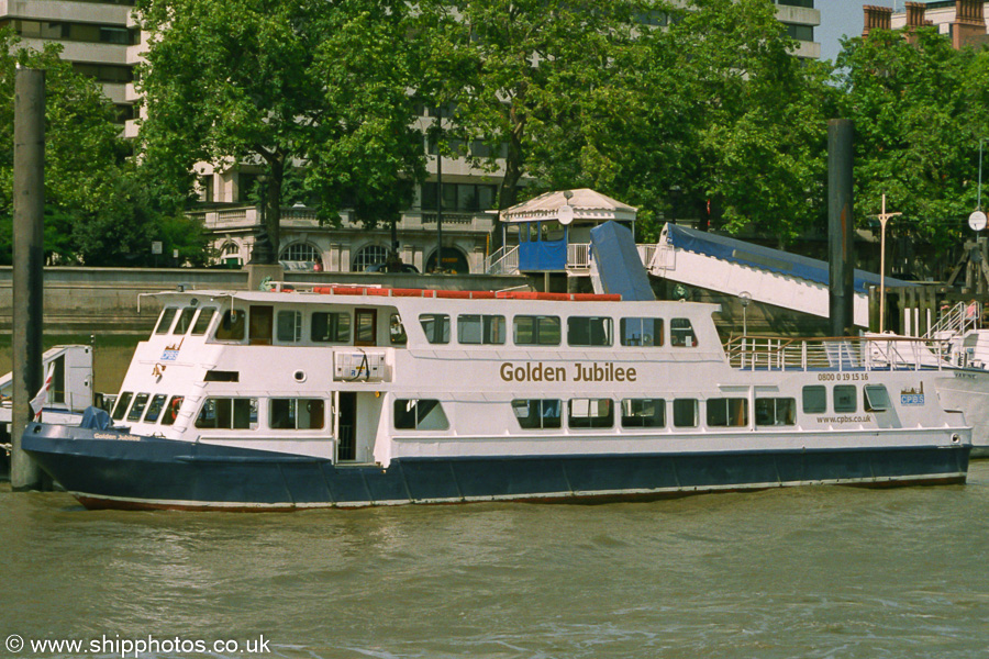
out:
{"label": "dark navy blue lower hull of the Golden Jubilee boat", "polygon": [[403,458],[387,468],[32,424],[24,448],[87,507],[292,510],[651,499],[843,483],[965,482],[969,446],[731,454]]}

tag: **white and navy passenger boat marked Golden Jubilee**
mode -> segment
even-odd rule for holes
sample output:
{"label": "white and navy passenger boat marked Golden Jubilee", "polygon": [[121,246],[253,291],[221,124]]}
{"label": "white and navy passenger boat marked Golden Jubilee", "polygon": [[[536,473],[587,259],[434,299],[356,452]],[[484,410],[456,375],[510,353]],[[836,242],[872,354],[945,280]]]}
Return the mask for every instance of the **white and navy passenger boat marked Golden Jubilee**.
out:
{"label": "white and navy passenger boat marked Golden Jubilee", "polygon": [[936,371],[735,340],[713,304],[274,284],[158,293],[105,429],[22,445],[87,507],[292,510],[962,483]]}

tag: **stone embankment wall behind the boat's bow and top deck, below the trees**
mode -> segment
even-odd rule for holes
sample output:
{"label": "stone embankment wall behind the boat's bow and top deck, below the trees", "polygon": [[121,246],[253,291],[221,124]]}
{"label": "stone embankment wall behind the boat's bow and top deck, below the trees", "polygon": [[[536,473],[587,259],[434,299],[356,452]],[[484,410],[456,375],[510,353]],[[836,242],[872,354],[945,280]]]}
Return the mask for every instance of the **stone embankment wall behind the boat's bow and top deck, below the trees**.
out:
{"label": "stone embankment wall behind the boat's bow and top deck, below the trees", "polygon": [[[286,272],[286,282],[380,284],[396,288],[501,290],[529,287],[525,277]],[[45,334],[146,334],[160,304],[153,293],[188,289],[245,290],[246,270],[189,268],[45,268]],[[140,308],[140,313],[138,313]],[[13,325],[13,273],[0,267],[0,333]]]}

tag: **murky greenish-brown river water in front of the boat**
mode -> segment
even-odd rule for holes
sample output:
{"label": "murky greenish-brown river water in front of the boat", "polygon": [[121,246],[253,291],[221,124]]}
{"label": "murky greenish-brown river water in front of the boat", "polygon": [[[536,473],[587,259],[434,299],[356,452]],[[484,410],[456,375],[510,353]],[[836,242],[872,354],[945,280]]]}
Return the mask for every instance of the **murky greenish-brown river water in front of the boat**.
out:
{"label": "murky greenish-brown river water in front of the boat", "polygon": [[0,656],[984,659],[987,511],[987,461],[937,488],[293,514],[5,488]]}

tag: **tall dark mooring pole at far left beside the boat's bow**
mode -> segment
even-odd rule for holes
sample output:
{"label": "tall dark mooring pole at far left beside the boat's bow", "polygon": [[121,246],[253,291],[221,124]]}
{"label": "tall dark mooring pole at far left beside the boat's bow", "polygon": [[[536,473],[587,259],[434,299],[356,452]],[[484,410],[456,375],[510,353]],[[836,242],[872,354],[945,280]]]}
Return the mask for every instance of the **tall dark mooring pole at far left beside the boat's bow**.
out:
{"label": "tall dark mooring pole at far left beside the boat's bow", "polygon": [[45,72],[18,68],[14,82],[13,410],[10,484],[42,485],[37,465],[21,448],[41,389],[44,310]]}

